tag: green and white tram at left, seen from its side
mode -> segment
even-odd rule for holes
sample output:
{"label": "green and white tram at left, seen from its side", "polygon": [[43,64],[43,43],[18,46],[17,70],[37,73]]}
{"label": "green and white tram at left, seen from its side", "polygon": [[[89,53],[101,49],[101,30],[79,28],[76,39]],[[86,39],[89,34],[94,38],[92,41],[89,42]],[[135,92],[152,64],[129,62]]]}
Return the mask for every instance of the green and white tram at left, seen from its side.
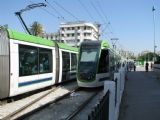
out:
{"label": "green and white tram at left, seen from its side", "polygon": [[78,49],[0,29],[0,99],[76,78]]}

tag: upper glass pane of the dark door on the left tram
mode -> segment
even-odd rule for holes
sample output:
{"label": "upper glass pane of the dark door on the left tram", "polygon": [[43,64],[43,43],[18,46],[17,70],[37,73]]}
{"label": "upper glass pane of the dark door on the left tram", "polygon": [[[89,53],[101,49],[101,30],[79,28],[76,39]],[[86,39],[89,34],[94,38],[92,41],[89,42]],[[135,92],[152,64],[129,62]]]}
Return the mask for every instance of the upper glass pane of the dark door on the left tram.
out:
{"label": "upper glass pane of the dark door on the left tram", "polygon": [[63,71],[69,71],[70,70],[70,54],[68,52],[62,52],[62,65],[63,65]]}

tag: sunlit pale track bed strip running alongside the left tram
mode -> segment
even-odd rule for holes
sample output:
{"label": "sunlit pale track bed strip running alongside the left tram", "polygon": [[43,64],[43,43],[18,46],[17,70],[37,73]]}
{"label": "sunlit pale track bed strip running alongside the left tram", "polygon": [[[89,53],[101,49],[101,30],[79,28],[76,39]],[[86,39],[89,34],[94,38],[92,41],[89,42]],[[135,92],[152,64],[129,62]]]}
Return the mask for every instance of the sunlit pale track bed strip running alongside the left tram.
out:
{"label": "sunlit pale track bed strip running alongside the left tram", "polygon": [[[52,104],[56,101],[59,101],[60,99],[63,99],[63,97],[65,97],[68,94],[74,92],[74,90],[69,91],[69,90],[63,90],[63,89],[64,89],[64,86],[62,86],[62,85],[55,86],[52,89],[45,92],[44,94],[37,97],[36,99],[32,100],[31,102],[27,101],[27,103],[24,103],[25,105],[23,105],[19,108],[18,108],[18,105],[17,105],[18,109],[15,109],[14,111],[10,112],[9,114],[3,115],[2,112],[5,112],[5,111],[3,111],[3,109],[0,109],[0,111],[2,111],[1,114],[0,114],[0,120],[18,119],[21,116],[25,116],[26,113],[31,114],[34,111],[38,111],[39,109],[42,109],[45,106],[48,106],[48,105],[50,105],[50,104]],[[56,92],[59,91],[59,90],[64,91],[64,94],[62,94],[62,95],[56,94]],[[40,102],[40,101],[46,101],[45,99],[48,99],[48,98],[52,99],[51,96],[52,97],[55,96],[53,98],[53,100],[47,101],[46,103],[45,102]],[[36,107],[35,108],[33,107],[33,109],[32,109],[32,106],[36,106]],[[2,108],[2,106],[0,106],[0,107]],[[8,107],[8,109],[10,109],[10,108],[12,108],[12,106]],[[27,109],[28,109],[28,111],[27,111]]]}

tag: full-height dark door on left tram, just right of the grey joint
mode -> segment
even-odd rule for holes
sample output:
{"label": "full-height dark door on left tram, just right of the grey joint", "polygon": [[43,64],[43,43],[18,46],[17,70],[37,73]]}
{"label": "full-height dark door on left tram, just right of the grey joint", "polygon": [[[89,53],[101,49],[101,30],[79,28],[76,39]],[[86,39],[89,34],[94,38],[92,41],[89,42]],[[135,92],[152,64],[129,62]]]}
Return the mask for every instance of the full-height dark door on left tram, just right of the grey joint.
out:
{"label": "full-height dark door on left tram, just right of the grey joint", "polygon": [[62,81],[69,79],[70,75],[70,54],[69,52],[62,52]]}

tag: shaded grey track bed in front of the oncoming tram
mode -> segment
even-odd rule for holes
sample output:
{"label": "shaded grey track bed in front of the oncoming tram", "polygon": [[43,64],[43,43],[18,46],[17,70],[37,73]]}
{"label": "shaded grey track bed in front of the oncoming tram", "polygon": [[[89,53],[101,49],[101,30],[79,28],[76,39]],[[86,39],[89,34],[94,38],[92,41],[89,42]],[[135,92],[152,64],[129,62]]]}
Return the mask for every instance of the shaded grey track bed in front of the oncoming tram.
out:
{"label": "shaded grey track bed in front of the oncoming tram", "polygon": [[20,118],[24,120],[32,119],[53,119],[53,120],[72,120],[75,118],[83,109],[97,97],[100,93],[99,90],[89,90],[79,88],[70,91],[69,93],[55,99],[47,106],[40,108],[30,114],[26,114]]}

